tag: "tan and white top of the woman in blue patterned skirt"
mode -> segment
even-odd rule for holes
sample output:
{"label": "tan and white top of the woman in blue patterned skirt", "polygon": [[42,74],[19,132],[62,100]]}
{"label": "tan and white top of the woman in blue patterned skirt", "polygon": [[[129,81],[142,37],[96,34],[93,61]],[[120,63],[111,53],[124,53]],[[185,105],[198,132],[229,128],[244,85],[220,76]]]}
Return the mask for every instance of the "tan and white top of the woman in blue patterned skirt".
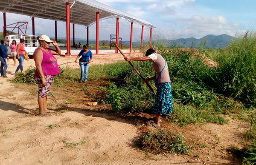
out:
{"label": "tan and white top of the woman in blue patterned skirt", "polygon": [[[168,65],[167,65],[166,61],[164,60],[164,58],[160,54],[157,54],[157,53],[150,54],[148,57],[150,57],[151,60],[153,60],[153,68],[154,68],[154,71],[157,72],[157,77],[156,77],[156,79],[158,78],[157,83],[171,82],[170,76],[169,76]],[[162,73],[160,74],[161,71],[162,71]]]}

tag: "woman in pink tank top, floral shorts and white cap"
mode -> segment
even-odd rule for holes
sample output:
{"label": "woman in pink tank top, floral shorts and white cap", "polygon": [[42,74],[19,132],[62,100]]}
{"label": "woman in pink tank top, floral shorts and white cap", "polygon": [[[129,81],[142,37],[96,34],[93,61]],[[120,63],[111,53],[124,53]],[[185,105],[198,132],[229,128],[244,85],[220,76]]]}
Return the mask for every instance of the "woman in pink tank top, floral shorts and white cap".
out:
{"label": "woman in pink tank top, floral shorts and white cap", "polygon": [[[39,38],[40,46],[35,50],[33,58],[35,61],[35,80],[38,83],[38,105],[39,115],[49,116],[47,109],[47,94],[50,91],[53,80],[60,74],[57,59],[53,55],[61,54],[61,49],[56,41],[52,41],[48,36],[42,35]],[[50,49],[52,43],[56,50]]]}

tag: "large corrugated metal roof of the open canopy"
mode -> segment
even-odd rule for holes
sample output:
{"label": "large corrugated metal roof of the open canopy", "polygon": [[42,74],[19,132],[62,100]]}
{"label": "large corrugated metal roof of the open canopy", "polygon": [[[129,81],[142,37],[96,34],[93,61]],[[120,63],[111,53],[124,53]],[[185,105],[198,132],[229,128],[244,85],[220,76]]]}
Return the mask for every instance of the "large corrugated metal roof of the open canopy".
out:
{"label": "large corrugated metal roof of the open canopy", "polygon": [[[65,0],[0,0],[0,11],[66,22],[65,2]],[[71,5],[73,1],[69,0],[69,2]],[[70,22],[91,26],[96,22],[96,11],[99,11],[100,20],[111,17],[124,17],[130,22],[137,22],[151,28],[156,27],[148,21],[96,0],[76,0],[70,9]]]}

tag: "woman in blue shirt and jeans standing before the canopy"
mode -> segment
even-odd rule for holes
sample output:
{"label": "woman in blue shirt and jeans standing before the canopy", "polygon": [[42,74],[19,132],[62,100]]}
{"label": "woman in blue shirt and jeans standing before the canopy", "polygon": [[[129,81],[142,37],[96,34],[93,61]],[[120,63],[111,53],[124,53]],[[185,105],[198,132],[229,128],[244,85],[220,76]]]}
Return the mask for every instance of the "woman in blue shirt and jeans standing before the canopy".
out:
{"label": "woman in blue shirt and jeans standing before the canopy", "polygon": [[75,62],[78,63],[78,59],[80,56],[82,56],[79,59],[79,65],[81,67],[81,78],[79,80],[79,83],[86,82],[88,77],[88,70],[89,70],[89,63],[93,59],[93,54],[88,48],[89,46],[86,44],[83,46],[83,50],[80,51],[78,56],[76,57]]}

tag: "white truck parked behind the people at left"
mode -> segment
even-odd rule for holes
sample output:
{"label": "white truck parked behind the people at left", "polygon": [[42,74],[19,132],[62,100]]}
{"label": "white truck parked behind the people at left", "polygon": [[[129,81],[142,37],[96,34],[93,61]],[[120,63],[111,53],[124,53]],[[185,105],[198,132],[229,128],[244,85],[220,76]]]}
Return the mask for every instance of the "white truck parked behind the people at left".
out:
{"label": "white truck parked behind the people at left", "polygon": [[[33,40],[33,37],[35,37],[35,40]],[[8,48],[8,54],[11,54],[11,48],[10,45],[12,43],[12,40],[16,40],[16,43],[20,43],[20,38],[25,40],[24,48],[26,52],[28,52],[29,58],[33,58],[33,54],[36,48],[40,46],[37,38],[37,36],[32,36],[32,35],[25,35],[25,34],[15,34],[15,35],[9,35],[6,36],[6,39],[10,40],[9,45],[7,46]],[[35,46],[33,47],[33,41],[35,42]]]}

